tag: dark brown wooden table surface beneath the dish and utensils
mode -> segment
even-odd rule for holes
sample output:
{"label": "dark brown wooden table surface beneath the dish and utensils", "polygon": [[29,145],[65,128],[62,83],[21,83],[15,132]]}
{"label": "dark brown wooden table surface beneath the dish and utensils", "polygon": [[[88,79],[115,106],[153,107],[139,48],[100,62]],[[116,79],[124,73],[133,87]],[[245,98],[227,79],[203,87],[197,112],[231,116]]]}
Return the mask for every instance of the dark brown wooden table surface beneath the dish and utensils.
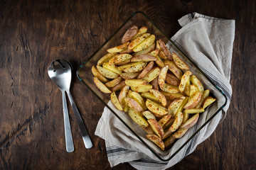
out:
{"label": "dark brown wooden table surface beneath the dish and utensils", "polygon": [[[63,58],[74,70],[134,11],[144,11],[169,37],[178,19],[198,12],[235,19],[227,117],[195,152],[170,169],[255,169],[255,1],[1,1],[0,169],[111,169],[94,135],[103,104],[73,73],[71,93],[94,147],[85,149],[72,108],[75,151],[65,151],[60,90],[47,74]],[[112,169],[133,169],[128,163]]]}

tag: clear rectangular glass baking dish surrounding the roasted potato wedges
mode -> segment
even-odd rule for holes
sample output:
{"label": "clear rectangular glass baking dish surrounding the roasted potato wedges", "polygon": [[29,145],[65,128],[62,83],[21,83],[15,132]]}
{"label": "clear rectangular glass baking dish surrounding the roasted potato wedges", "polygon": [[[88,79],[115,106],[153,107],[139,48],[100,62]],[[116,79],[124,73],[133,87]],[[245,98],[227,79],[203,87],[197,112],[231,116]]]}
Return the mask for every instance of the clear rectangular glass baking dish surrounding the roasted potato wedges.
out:
{"label": "clear rectangular glass baking dish surrounding the roasted potato wedges", "polygon": [[[97,65],[97,61],[100,60],[100,58],[103,55],[107,54],[107,49],[110,47],[114,47],[116,45],[121,44],[121,38],[122,35],[125,33],[125,31],[130,28],[131,26],[138,26],[139,28],[142,26],[148,27],[148,33],[156,35],[156,40],[163,40],[167,47],[169,47],[169,50],[171,52],[176,52],[181,59],[188,64],[188,66],[191,68],[191,72],[198,77],[198,79],[202,82],[205,89],[210,89],[210,95],[214,96],[217,100],[214,102],[210,107],[206,109],[204,113],[201,113],[200,118],[198,120],[198,123],[194,125],[192,128],[186,132],[186,135],[181,137],[181,139],[177,140],[174,145],[166,150],[162,151],[159,147],[154,145],[153,142],[149,141],[146,138],[146,132],[142,130],[142,128],[139,127],[132,118],[129,118],[129,115],[127,113],[124,113],[122,111],[117,111],[116,108],[113,108],[112,103],[110,101],[110,94],[104,94],[99,89],[97,89],[97,86],[95,86],[93,81],[93,74],[91,72],[91,68],[93,65]],[[129,130],[131,130],[134,135],[138,137],[138,139],[154,154],[156,157],[158,157],[161,161],[169,161],[172,159],[179,151],[186,152],[186,147],[190,145],[188,142],[192,142],[191,140],[193,137],[196,137],[198,132],[202,130],[203,127],[205,127],[210,120],[212,120],[218,113],[221,114],[221,110],[226,104],[227,97],[223,93],[223,91],[218,88],[213,82],[208,79],[206,74],[202,71],[202,69],[199,69],[195,62],[193,62],[188,55],[186,55],[186,52],[184,50],[181,50],[181,47],[179,47],[173,40],[168,38],[163,31],[160,30],[156,24],[151,21],[151,19],[146,16],[145,13],[137,11],[130,16],[127,21],[125,21],[120,28],[117,29],[117,31],[105,42],[103,43],[98,50],[96,50],[78,69],[77,76],[80,81],[82,81],[83,84],[87,86],[90,91],[92,91],[97,98],[102,101],[102,103],[107,106],[107,108],[112,111],[112,113],[121,120],[122,123],[124,123]],[[187,139],[187,140],[184,140]],[[186,146],[186,147],[185,147]]]}

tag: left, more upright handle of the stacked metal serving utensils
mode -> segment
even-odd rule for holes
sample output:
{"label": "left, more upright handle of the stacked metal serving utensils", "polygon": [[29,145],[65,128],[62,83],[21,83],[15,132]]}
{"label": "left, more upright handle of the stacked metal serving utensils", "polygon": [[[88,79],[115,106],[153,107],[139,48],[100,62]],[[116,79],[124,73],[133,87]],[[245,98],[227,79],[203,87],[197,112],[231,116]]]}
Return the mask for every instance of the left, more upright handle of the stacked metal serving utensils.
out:
{"label": "left, more upright handle of the stacked metal serving utensils", "polygon": [[65,144],[67,152],[74,151],[73,137],[70,128],[70,120],[68,117],[68,106],[65,98],[65,91],[61,91],[63,96],[63,116],[64,116],[64,130],[65,130]]}

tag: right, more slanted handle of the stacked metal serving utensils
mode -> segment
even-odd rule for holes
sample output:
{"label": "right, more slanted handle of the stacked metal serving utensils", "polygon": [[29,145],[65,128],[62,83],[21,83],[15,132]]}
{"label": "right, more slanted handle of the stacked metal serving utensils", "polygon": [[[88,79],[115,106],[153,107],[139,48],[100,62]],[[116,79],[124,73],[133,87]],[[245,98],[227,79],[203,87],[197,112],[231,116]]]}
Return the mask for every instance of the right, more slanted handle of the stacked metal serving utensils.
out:
{"label": "right, more slanted handle of the stacked metal serving utensils", "polygon": [[70,99],[71,106],[75,113],[75,119],[78,121],[78,127],[82,135],[82,140],[85,144],[85,147],[87,149],[90,149],[92,147],[92,140],[90,140],[90,136],[88,135],[87,129],[85,128],[85,124],[83,123],[80,113],[78,112],[78,108],[75,106],[75,102],[73,101],[70,91],[66,91],[66,92],[68,94],[68,98]]}

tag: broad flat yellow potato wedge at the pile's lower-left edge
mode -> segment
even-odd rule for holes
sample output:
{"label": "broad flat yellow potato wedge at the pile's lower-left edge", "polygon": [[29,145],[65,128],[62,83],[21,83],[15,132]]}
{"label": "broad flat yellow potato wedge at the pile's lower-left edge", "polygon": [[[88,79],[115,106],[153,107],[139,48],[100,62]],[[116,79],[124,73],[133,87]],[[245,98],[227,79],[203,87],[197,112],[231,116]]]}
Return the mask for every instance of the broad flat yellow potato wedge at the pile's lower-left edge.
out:
{"label": "broad flat yellow potato wedge at the pile's lower-left edge", "polygon": [[142,129],[146,129],[149,127],[149,123],[146,121],[145,118],[143,118],[142,113],[139,113],[135,111],[132,108],[129,108],[128,115],[134,120],[135,123],[137,123]]}

